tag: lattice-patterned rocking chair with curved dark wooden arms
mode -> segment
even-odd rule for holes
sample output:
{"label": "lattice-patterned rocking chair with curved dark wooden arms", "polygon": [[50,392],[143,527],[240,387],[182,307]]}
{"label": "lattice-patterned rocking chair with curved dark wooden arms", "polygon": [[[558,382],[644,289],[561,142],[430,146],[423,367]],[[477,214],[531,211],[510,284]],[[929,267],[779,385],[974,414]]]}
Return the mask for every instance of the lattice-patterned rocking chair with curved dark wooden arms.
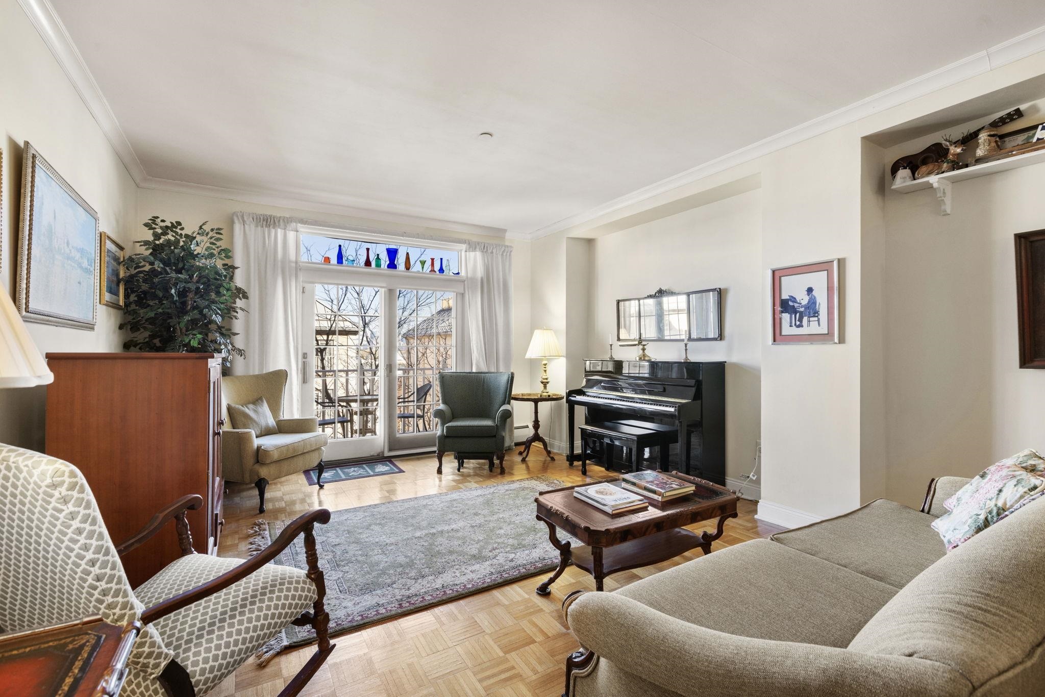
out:
{"label": "lattice-patterned rocking chair with curved dark wooden arms", "polygon": [[[243,561],[192,552],[185,512],[202,505],[185,496],[116,547],[79,470],[0,444],[0,631],[93,614],[115,625],[140,620],[120,695],[202,697],[288,624],[308,625],[318,650],[282,693],[297,694],[333,650],[312,535],[330,512],[302,515]],[[132,589],[120,555],[171,519],[183,556]],[[302,533],[307,573],[268,563]]]}

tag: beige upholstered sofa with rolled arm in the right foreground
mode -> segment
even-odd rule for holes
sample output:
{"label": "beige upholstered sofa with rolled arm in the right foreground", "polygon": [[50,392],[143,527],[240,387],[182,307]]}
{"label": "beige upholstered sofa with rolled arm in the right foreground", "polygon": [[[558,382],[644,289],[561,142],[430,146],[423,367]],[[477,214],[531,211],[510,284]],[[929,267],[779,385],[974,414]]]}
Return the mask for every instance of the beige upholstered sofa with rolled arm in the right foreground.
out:
{"label": "beige upholstered sofa with rolled arm in the right foreground", "polygon": [[580,595],[570,694],[1045,695],[1045,499],[945,555],[929,524],[966,482]]}

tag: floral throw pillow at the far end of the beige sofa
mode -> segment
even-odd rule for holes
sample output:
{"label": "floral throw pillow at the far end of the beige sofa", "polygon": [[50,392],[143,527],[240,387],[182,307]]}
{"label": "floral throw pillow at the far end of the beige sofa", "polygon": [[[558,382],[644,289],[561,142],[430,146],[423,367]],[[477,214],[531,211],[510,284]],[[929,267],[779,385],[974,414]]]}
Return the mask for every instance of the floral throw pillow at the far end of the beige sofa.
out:
{"label": "floral throw pillow at the far end of the beige sofa", "polygon": [[948,552],[1045,494],[1045,472],[1025,469],[1012,460],[991,465],[945,503],[953,504],[951,512],[933,520],[932,529]]}

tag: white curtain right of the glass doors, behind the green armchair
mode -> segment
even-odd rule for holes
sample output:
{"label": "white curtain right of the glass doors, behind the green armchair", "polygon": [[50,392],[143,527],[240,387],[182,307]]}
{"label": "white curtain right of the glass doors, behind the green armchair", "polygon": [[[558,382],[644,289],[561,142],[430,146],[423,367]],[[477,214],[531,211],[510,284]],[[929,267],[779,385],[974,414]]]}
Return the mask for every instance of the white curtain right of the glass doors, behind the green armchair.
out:
{"label": "white curtain right of the glass doors, behind the green armchair", "polygon": [[461,253],[472,370],[512,369],[512,248],[469,241]]}

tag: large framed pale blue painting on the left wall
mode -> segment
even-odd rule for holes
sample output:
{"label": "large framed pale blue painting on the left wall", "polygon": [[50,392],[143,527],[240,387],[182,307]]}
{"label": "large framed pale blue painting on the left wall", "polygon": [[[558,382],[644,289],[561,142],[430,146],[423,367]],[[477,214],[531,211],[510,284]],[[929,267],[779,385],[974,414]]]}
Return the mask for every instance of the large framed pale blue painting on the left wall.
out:
{"label": "large framed pale blue painting on the left wall", "polygon": [[18,309],[23,319],[94,330],[98,214],[25,143]]}

